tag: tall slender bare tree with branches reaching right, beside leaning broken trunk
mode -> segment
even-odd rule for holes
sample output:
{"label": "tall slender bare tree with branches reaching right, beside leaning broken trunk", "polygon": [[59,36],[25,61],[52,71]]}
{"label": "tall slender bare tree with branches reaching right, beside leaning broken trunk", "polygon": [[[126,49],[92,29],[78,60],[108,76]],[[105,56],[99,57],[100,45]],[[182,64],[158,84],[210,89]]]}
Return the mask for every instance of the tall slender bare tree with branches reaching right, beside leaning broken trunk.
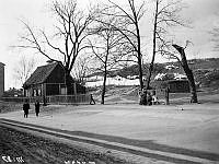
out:
{"label": "tall slender bare tree with branches reaching right, beside leaning broken trunk", "polygon": [[147,89],[150,86],[151,75],[153,71],[153,65],[157,54],[162,54],[163,47],[170,47],[171,42],[168,40],[166,34],[169,28],[180,25],[186,26],[185,21],[180,16],[180,12],[183,9],[181,0],[168,1],[154,0],[155,11],[153,15],[153,40],[152,40],[152,59],[149,66],[149,74],[147,80]]}

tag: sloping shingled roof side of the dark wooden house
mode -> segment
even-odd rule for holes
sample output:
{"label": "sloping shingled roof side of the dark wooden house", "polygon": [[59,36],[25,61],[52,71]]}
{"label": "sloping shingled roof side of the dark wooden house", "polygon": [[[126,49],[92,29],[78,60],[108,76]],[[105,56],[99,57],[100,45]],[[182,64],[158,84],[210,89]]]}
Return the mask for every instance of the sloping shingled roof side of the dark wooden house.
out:
{"label": "sloping shingled roof side of the dark wooden house", "polygon": [[49,65],[37,67],[31,77],[25,81],[23,86],[44,83],[57,65],[60,63],[51,62]]}

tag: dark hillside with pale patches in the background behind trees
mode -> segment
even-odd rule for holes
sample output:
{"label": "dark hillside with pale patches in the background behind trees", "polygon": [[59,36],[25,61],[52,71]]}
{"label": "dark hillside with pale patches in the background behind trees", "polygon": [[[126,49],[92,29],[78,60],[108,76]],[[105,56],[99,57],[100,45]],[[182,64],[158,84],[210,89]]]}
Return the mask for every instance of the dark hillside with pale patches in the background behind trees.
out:
{"label": "dark hillside with pale patches in the background behind trees", "polygon": [[[219,89],[219,58],[206,58],[206,59],[192,59],[188,60],[189,68],[194,72],[195,81],[199,87],[214,87]],[[147,78],[149,63],[143,66],[143,77]],[[173,67],[172,69],[166,69],[166,67]],[[127,78],[128,75],[136,75],[138,78],[138,66],[132,65],[125,67],[123,69],[111,71],[110,77],[120,75]],[[165,62],[155,63],[151,82],[153,83],[154,77],[158,73],[180,73],[184,74],[184,70],[178,62]],[[101,75],[102,73],[96,72],[90,75]],[[171,77],[171,75],[170,75]]]}

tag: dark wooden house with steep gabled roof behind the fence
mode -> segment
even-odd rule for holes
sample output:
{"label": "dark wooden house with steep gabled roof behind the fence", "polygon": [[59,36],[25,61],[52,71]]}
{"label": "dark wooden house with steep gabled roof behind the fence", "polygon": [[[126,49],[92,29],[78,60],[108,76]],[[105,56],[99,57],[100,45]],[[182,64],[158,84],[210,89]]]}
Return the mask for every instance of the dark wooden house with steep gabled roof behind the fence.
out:
{"label": "dark wooden house with steep gabled roof behind the fence", "polygon": [[65,69],[60,62],[37,67],[23,84],[24,96],[48,96],[85,93],[85,87],[70,77],[71,85],[66,85]]}

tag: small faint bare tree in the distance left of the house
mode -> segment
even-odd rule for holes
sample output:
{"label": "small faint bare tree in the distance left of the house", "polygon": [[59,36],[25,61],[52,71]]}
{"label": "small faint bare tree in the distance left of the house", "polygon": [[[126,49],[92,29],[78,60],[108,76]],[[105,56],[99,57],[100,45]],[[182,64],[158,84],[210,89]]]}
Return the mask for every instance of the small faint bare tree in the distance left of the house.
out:
{"label": "small faint bare tree in the distance left of the house", "polygon": [[19,80],[21,85],[23,85],[24,82],[31,77],[31,73],[33,72],[35,67],[36,60],[34,60],[34,58],[27,59],[22,56],[13,69],[14,78]]}

